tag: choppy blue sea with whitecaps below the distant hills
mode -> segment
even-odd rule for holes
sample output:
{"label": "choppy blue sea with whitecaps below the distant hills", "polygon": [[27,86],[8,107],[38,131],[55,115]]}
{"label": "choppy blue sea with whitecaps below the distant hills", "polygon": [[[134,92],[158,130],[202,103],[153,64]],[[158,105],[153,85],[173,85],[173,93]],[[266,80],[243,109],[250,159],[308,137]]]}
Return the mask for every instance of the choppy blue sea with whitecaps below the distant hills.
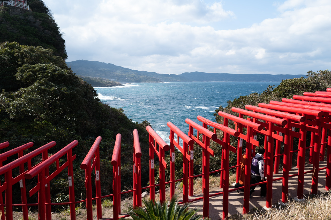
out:
{"label": "choppy blue sea with whitecaps below the distant hills", "polygon": [[99,99],[115,108],[122,108],[128,118],[141,123],[147,120],[160,137],[169,143],[172,122],[185,134],[185,119],[202,124],[200,115],[214,121],[213,114],[227,101],[253,92],[261,93],[269,85],[280,82],[166,82],[131,83],[124,86],[96,87]]}

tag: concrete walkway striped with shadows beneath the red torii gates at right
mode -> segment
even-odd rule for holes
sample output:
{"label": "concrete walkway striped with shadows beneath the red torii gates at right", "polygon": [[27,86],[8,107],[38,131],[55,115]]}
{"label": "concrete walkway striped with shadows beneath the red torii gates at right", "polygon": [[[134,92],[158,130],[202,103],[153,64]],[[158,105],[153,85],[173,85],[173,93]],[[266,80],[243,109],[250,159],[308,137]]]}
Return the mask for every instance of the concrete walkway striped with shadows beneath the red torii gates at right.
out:
{"label": "concrete walkway striped with shadows beneath the red torii gates at right", "polygon": [[[325,162],[321,162],[319,165],[319,168],[326,167]],[[312,169],[312,165],[309,165],[305,167],[305,171],[309,171]],[[291,174],[298,173],[297,168],[293,168],[290,171]],[[281,177],[282,173],[274,174],[273,178]],[[326,192],[325,190],[325,176],[326,176],[326,170],[319,171],[318,175],[318,191],[319,192]],[[305,174],[304,179],[304,194],[308,195],[310,193],[310,186],[311,186],[311,178],[312,173]],[[298,185],[298,176],[294,176],[289,179],[289,198],[294,198],[297,196],[297,185]],[[232,186],[233,187],[233,186]],[[231,186],[229,189],[232,188]],[[221,192],[214,191],[210,192],[210,194]],[[203,195],[196,195],[194,197],[190,197],[189,199],[194,199],[197,197],[202,197]],[[229,216],[240,214],[243,211],[243,199],[244,194],[243,193],[237,193],[236,191],[229,193]],[[250,207],[249,209],[252,210],[253,208],[261,208],[266,205],[266,197],[260,197],[260,187],[257,186],[255,188],[255,192],[252,194],[253,197],[250,198]],[[274,181],[273,187],[272,187],[272,200],[273,204],[278,203],[278,201],[281,201],[282,198],[282,180]],[[209,198],[209,217],[211,219],[221,219],[222,218],[222,202],[223,202],[223,196],[215,196]],[[198,214],[203,214],[202,208],[203,208],[203,200],[199,200],[196,202],[191,203],[190,207],[198,206],[201,208],[201,210],[198,212]]]}

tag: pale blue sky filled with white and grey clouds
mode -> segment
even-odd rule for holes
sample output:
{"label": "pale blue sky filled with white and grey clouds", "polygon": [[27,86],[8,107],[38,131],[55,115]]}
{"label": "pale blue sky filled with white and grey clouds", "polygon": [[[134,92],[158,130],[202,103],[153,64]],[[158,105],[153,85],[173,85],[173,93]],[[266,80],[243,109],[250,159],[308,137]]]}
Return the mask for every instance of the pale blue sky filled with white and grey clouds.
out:
{"label": "pale blue sky filled with white and grey clouds", "polygon": [[67,62],[165,74],[331,69],[330,0],[43,2],[63,32]]}

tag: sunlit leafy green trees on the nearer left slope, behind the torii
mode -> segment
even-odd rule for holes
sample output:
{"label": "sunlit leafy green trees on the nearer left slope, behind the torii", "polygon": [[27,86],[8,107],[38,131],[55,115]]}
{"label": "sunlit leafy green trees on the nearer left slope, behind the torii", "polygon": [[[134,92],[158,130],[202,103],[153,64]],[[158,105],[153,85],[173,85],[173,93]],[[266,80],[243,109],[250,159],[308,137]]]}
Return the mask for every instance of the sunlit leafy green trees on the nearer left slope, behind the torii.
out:
{"label": "sunlit leafy green trees on the nearer left slope, behind the torii", "polygon": [[[75,190],[85,192],[84,171],[79,168],[96,137],[101,136],[102,194],[112,193],[111,157],[116,135],[122,135],[122,185],[132,184],[134,129],[138,130],[143,155],[148,155],[147,121],[133,123],[122,109],[100,102],[96,90],[75,76],[51,49],[5,42],[0,45],[0,142],[17,147],[29,141],[36,149],[50,141],[54,154],[74,139]],[[145,126],[145,127],[144,127]],[[3,152],[3,151],[2,151]],[[148,157],[142,172],[148,172]],[[51,167],[55,171],[56,167]],[[93,177],[92,177],[93,178]],[[143,179],[143,184],[148,181]],[[33,184],[33,183],[31,183]],[[95,184],[95,183],[93,183]],[[68,202],[68,176],[61,173],[51,184],[52,201]],[[20,195],[17,193],[17,195]]]}

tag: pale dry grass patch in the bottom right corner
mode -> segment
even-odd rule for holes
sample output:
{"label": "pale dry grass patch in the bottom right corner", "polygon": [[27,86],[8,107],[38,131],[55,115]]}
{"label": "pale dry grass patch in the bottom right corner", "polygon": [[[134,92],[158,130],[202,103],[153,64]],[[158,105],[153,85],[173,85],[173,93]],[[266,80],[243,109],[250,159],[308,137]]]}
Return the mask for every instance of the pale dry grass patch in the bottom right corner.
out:
{"label": "pale dry grass patch in the bottom right corner", "polygon": [[232,220],[304,220],[331,219],[331,192],[310,196],[305,202],[290,201],[287,206],[276,205],[275,208],[252,210],[251,214],[234,215]]}

